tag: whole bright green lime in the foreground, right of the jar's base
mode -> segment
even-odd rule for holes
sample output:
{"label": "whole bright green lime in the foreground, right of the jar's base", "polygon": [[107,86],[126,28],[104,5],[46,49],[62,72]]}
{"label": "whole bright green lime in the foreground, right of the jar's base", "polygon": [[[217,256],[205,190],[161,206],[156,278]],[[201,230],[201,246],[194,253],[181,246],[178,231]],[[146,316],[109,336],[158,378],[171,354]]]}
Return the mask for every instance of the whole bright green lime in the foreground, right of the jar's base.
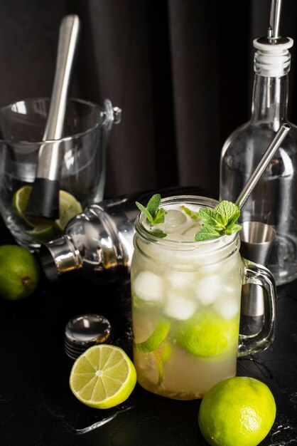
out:
{"label": "whole bright green lime in the foreground, right of the jar's base", "polygon": [[256,446],[276,417],[274,395],[264,383],[237,376],[214,385],[202,399],[198,423],[215,446]]}

